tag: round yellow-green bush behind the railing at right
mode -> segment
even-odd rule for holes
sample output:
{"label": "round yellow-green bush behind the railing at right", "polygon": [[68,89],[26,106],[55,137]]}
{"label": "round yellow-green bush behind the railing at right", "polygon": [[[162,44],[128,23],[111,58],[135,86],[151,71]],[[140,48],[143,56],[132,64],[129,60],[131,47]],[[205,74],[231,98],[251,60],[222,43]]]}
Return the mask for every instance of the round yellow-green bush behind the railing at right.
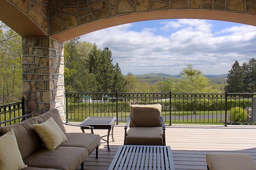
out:
{"label": "round yellow-green bush behind the railing at right", "polygon": [[231,108],[231,121],[244,123],[247,122],[246,110],[241,107]]}

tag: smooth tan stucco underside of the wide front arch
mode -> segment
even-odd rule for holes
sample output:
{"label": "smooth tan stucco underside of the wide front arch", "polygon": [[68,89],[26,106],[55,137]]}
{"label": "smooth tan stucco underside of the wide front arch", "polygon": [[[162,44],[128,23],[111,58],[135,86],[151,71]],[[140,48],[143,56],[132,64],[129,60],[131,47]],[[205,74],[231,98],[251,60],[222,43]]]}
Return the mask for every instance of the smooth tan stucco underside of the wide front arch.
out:
{"label": "smooth tan stucco underside of the wide front arch", "polygon": [[256,16],[235,13],[235,12],[223,12],[223,11],[207,11],[207,10],[171,10],[171,11],[152,11],[152,12],[142,12],[135,14],[127,14],[122,16],[117,16],[113,18],[102,19],[99,21],[91,22],[66,30],[62,33],[51,36],[52,38],[59,41],[67,41],[72,38],[101,30],[108,27],[113,27],[117,25],[147,21],[147,20],[158,20],[158,19],[208,19],[208,20],[220,20],[229,21],[241,24],[248,24],[256,26]]}

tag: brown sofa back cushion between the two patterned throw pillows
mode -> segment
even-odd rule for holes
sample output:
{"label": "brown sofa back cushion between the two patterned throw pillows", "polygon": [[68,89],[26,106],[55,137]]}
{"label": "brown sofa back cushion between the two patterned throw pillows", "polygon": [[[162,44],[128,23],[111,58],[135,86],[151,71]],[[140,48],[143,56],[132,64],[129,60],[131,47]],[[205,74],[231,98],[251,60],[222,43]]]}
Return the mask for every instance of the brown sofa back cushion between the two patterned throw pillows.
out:
{"label": "brown sofa back cushion between the two patterned throw pillows", "polygon": [[43,146],[43,142],[36,133],[33,124],[38,124],[38,122],[30,118],[14,125],[0,127],[0,135],[4,135],[13,129],[22,159]]}

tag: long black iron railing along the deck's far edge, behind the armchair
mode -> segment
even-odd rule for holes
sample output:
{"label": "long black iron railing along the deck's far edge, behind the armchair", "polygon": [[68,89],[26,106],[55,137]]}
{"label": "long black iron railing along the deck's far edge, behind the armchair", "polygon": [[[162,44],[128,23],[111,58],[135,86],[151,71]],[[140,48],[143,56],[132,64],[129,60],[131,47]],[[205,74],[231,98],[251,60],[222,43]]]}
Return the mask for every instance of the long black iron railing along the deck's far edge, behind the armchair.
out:
{"label": "long black iron railing along the deck's far edge, behind the armchair", "polygon": [[164,122],[254,124],[254,93],[65,93],[66,119],[82,121],[87,117],[117,117],[128,120],[130,103],[162,103]]}

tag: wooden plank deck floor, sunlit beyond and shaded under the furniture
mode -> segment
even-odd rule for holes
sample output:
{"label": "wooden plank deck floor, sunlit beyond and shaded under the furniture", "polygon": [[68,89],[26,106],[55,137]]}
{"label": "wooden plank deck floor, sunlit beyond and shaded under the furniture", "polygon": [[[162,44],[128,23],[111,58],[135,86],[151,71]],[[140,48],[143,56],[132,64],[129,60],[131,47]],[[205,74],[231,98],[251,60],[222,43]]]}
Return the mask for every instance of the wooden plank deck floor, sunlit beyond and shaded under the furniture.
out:
{"label": "wooden plank deck floor, sunlit beyond and shaded under the furniture", "polygon": [[[65,128],[67,132],[81,132],[79,127]],[[94,133],[105,135],[107,130],[94,130]],[[110,142],[110,152],[102,140],[99,158],[95,159],[94,151],[85,160],[84,169],[108,169],[119,145],[123,144],[124,125],[115,126],[114,139],[115,142]],[[176,170],[206,170],[205,154],[208,152],[247,153],[256,160],[256,126],[166,126],[166,145],[171,146]]]}

